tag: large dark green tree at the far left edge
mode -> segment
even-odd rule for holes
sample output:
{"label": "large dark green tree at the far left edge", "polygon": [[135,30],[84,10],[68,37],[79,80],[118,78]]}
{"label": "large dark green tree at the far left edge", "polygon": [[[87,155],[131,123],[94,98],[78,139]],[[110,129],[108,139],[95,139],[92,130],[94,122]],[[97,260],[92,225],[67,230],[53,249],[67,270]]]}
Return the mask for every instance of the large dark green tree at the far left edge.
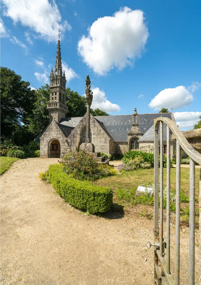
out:
{"label": "large dark green tree at the far left edge", "polygon": [[[13,70],[1,66],[1,138],[15,141],[16,131],[25,129],[35,102],[30,83]],[[20,133],[18,133],[20,136]]]}

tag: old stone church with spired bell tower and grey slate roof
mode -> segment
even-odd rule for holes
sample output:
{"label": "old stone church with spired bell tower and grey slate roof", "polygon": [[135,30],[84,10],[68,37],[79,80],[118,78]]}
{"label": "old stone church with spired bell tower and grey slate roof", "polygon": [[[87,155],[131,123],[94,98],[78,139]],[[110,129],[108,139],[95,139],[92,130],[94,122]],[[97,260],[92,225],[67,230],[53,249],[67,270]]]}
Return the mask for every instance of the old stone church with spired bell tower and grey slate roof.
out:
{"label": "old stone church with spired bell tower and grey slate roof", "polygon": [[[90,79],[87,78],[90,84]],[[90,85],[88,88],[91,91]],[[66,79],[65,72],[62,73],[61,48],[58,41],[55,71],[53,73],[52,69],[50,73],[50,100],[47,103],[49,125],[36,139],[40,142],[40,157],[62,157],[67,152],[74,152],[84,143],[90,143],[93,152],[103,152],[112,156],[124,154],[131,149],[152,151],[154,118],[163,115],[175,121],[172,111],[163,114],[138,114],[136,108],[132,115],[92,116],[90,105],[87,106],[89,111],[84,117],[69,118],[66,117],[68,108],[65,104],[65,90]],[[164,134],[166,134],[165,126]],[[173,153],[175,141],[172,138],[170,144]],[[165,135],[164,153],[166,153]]]}

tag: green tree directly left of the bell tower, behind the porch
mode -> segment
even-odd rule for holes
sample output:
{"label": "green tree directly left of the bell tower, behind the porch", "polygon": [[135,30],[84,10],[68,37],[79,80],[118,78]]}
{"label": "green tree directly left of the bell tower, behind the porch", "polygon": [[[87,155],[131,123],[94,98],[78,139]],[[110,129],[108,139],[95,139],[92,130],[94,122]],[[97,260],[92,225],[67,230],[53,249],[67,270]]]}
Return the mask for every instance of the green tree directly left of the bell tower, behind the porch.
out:
{"label": "green tree directly left of the bell tower, behind the porch", "polygon": [[33,116],[30,117],[29,131],[37,137],[49,124],[49,111],[47,102],[50,99],[49,85],[41,86],[35,90],[36,101],[33,106]]}

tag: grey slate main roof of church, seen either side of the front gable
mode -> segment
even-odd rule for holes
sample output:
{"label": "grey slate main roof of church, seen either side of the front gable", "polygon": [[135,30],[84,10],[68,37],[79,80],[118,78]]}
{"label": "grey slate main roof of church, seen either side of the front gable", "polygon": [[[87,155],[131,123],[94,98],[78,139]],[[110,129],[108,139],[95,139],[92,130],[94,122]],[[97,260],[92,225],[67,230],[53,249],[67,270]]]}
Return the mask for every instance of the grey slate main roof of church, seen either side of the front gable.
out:
{"label": "grey slate main roof of church, seen either side of the front gable", "polygon": [[[154,123],[154,118],[160,117],[162,114],[163,117],[172,120],[171,113],[139,114],[138,123],[142,134],[145,134],[151,128]],[[132,115],[95,116],[94,118],[102,123],[101,126],[107,129],[107,132],[114,141],[127,140],[127,133],[132,127]],[[61,119],[60,124],[76,127],[81,119],[82,117],[65,118]]]}

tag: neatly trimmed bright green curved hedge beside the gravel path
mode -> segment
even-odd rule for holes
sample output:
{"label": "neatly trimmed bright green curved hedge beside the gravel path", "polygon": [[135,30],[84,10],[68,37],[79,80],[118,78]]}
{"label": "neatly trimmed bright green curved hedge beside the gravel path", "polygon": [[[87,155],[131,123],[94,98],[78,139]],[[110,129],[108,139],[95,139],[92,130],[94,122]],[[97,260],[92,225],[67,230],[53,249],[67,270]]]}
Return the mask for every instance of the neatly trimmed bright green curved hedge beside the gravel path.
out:
{"label": "neatly trimmed bright green curved hedge beside the gravel path", "polygon": [[106,212],[113,204],[111,188],[72,178],[63,172],[60,164],[49,166],[49,180],[66,202],[91,214]]}

